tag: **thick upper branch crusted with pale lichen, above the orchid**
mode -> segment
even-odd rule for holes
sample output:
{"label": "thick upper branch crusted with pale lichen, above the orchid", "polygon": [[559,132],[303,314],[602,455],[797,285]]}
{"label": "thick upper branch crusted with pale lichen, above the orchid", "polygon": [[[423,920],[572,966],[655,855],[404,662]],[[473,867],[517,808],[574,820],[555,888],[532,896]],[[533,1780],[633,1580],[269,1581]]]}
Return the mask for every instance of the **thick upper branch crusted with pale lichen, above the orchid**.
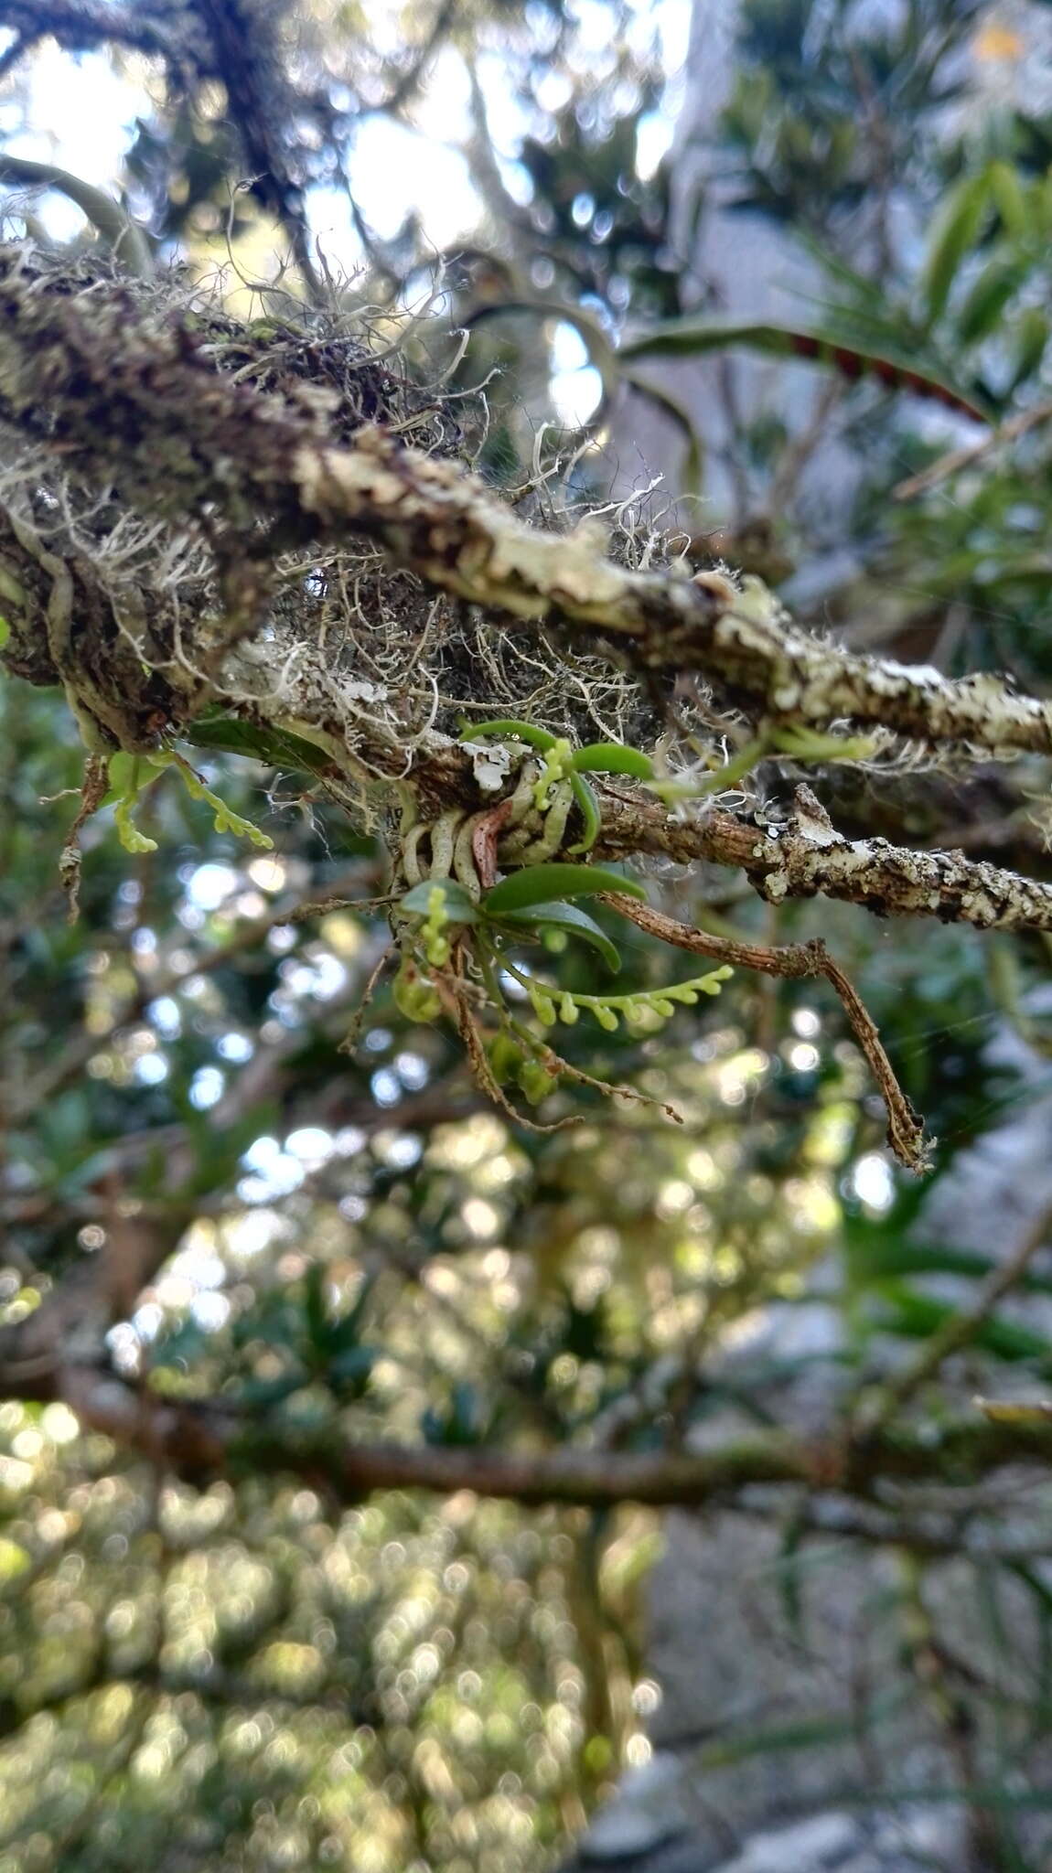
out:
{"label": "thick upper branch crusted with pale lichen, above the orchid", "polygon": [[[67,283],[0,251],[0,399],[24,431],[140,513],[208,521],[238,629],[268,590],[268,551],[361,534],[427,584],[494,614],[599,637],[640,671],[698,671],[762,721],[878,723],[923,742],[1052,751],[1052,710],[992,676],[852,656],[723,573],[633,571],[601,530],[567,538],[507,511],[459,463],[376,427],[335,446],[333,399],[300,406],[215,371],[185,317],[127,287]],[[47,410],[47,416],[43,414]]]}

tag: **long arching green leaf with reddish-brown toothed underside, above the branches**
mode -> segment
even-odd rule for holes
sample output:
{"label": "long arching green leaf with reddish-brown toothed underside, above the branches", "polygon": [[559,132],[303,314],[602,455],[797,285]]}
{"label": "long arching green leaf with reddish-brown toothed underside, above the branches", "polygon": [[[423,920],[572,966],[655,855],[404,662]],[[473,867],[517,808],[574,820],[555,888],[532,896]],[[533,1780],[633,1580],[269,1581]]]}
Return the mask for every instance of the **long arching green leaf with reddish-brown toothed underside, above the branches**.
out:
{"label": "long arching green leaf with reddish-brown toothed underside, above the branches", "polygon": [[745,345],[749,350],[767,352],[775,358],[812,358],[850,378],[876,376],[889,390],[908,390],[915,397],[932,397],[981,423],[990,421],[992,410],[986,399],[972,386],[955,382],[942,363],[915,350],[906,350],[906,347],[897,347],[893,339],[859,341],[839,332],[835,324],[818,328],[771,326],[738,318],[666,318],[650,326],[646,337],[623,345],[621,356],[693,358],[709,350],[726,350],[732,345]]}

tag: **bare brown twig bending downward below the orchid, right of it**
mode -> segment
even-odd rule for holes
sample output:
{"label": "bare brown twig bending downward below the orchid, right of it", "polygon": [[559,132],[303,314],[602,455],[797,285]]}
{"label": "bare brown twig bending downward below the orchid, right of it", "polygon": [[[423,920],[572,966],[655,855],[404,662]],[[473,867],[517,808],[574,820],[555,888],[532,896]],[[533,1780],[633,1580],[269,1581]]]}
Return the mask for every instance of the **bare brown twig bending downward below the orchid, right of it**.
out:
{"label": "bare brown twig bending downward below the orchid, right of it", "polygon": [[884,1051],[872,1017],[820,938],[771,950],[766,944],[709,936],[708,931],[678,923],[674,918],[666,918],[665,912],[651,910],[650,905],[640,905],[635,897],[625,897],[621,892],[605,892],[599,903],[629,918],[631,923],[636,923],[640,931],[648,931],[650,936],[674,944],[678,950],[691,950],[693,955],[708,955],[715,963],[730,963],[734,968],[754,968],[766,976],[782,976],[786,980],[824,976],[840,996],[852,1032],[880,1086],[887,1107],[887,1143],[891,1150],[906,1169],[927,1169],[930,1146],[925,1141],[921,1118],[895,1079],[895,1069]]}

